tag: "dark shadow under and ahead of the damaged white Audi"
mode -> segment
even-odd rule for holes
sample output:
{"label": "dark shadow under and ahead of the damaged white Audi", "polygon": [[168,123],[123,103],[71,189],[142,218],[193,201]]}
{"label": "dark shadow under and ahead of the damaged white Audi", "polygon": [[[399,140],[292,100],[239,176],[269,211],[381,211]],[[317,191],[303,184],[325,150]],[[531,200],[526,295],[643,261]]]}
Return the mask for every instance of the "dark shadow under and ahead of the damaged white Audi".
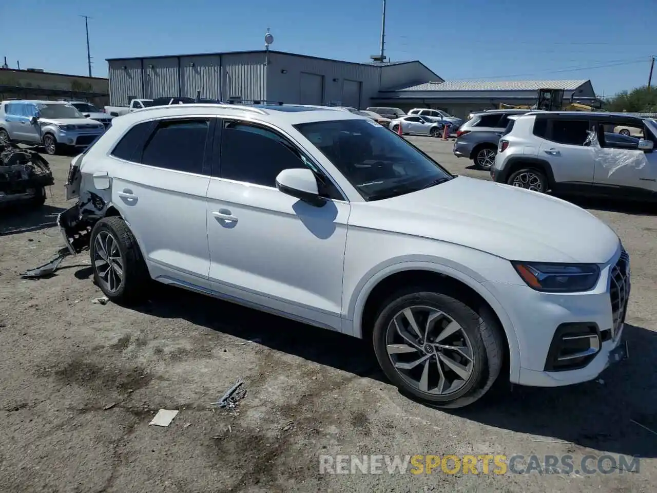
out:
{"label": "dark shadow under and ahead of the damaged white Audi", "polygon": [[[90,275],[89,268],[76,273],[78,279]],[[258,344],[267,348],[387,383],[371,344],[365,340],[158,283],[154,283],[152,293],[150,300],[135,310],[155,317],[185,319],[246,340],[258,339]],[[657,354],[657,332],[626,324],[623,337],[629,344],[629,360],[608,368],[596,381],[531,388],[511,387],[501,380],[472,406],[437,412],[568,442],[573,452],[587,447],[657,457],[657,373],[653,356]]]}

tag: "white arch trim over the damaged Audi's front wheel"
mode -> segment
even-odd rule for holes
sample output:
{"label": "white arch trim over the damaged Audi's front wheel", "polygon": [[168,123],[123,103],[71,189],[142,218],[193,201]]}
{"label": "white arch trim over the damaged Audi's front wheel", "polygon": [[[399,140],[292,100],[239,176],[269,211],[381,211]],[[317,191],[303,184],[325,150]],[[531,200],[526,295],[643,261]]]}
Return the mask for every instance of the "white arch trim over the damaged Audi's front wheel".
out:
{"label": "white arch trim over the damaged Audi's front wheel", "polygon": [[347,326],[343,328],[342,332],[362,339],[363,329],[361,327],[361,319],[363,318],[365,302],[374,287],[386,277],[405,270],[426,270],[447,275],[448,277],[453,277],[454,279],[461,281],[476,291],[476,293],[482,296],[489,306],[491,306],[493,312],[495,312],[499,318],[505,334],[507,335],[507,341],[509,342],[510,381],[518,381],[520,376],[520,346],[518,345],[516,330],[513,327],[507,311],[503,308],[497,298],[495,298],[495,295],[487,289],[484,284],[486,280],[475,271],[472,271],[461,264],[447,261],[452,264],[449,266],[445,264],[437,264],[436,259],[428,261],[426,256],[417,257],[419,258],[411,257],[401,261],[392,259],[389,262],[385,262],[384,264],[380,264],[371,269],[358,283],[354,289],[353,295],[351,296],[348,312],[346,314],[348,319],[344,320],[346,323],[351,321],[351,331],[348,330]]}

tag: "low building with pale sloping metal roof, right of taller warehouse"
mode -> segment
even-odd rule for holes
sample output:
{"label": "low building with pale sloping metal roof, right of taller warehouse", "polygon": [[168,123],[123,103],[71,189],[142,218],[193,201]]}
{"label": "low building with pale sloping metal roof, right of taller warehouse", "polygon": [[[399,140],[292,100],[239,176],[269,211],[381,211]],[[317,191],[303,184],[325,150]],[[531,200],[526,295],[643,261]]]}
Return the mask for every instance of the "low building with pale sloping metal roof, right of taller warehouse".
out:
{"label": "low building with pale sloping metal roof, right of taller warehouse", "polygon": [[500,103],[531,105],[538,89],[564,89],[564,101],[571,95],[595,97],[590,80],[437,81],[382,89],[374,101],[403,110],[438,108],[463,118],[472,111],[499,108]]}

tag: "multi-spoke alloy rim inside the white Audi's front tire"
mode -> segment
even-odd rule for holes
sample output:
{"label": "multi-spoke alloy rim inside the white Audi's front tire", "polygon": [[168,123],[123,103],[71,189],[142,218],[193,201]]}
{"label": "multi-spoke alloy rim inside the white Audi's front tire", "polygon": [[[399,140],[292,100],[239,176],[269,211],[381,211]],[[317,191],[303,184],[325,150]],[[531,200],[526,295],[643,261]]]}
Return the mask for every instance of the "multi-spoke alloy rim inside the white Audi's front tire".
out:
{"label": "multi-spoke alloy rim inside the white Audi's front tire", "polygon": [[386,350],[401,378],[428,394],[457,392],[473,373],[472,344],[463,327],[430,306],[410,306],[392,317]]}

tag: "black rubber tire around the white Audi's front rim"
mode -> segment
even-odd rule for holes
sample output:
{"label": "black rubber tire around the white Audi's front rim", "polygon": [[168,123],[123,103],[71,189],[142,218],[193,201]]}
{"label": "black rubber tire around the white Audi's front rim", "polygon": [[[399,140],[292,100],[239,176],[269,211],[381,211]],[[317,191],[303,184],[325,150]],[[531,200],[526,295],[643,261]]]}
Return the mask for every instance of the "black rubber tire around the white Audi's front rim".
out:
{"label": "black rubber tire around the white Audi's front rim", "polygon": [[[432,394],[409,384],[399,374],[388,355],[388,327],[393,317],[404,308],[419,305],[439,310],[449,316],[461,325],[469,339],[472,347],[472,370],[468,380],[454,392]],[[399,390],[433,406],[456,409],[472,404],[484,396],[495,383],[503,365],[505,348],[502,329],[495,318],[486,310],[479,312],[449,294],[428,291],[426,287],[409,287],[398,291],[382,303],[374,322],[374,352],[381,369]]]}

